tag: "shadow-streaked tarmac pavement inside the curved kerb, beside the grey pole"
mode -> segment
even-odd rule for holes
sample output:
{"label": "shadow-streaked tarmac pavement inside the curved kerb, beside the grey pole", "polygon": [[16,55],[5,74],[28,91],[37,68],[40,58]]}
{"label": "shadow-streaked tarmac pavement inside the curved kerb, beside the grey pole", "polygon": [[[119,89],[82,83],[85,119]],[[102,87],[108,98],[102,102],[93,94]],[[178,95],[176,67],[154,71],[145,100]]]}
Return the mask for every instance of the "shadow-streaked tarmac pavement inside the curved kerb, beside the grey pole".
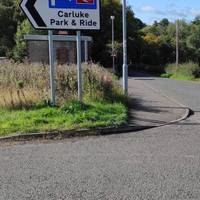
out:
{"label": "shadow-streaked tarmac pavement inside the curved kerb, beside the grey pole", "polygon": [[186,117],[188,109],[140,78],[129,79],[131,96],[130,124],[160,126]]}

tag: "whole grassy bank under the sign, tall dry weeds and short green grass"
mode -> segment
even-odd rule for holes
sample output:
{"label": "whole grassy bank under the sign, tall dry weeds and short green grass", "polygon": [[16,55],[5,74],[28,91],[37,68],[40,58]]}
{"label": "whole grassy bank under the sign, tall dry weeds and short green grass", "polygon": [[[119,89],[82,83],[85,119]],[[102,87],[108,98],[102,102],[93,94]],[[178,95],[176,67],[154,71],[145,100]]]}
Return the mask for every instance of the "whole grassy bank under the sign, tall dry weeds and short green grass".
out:
{"label": "whole grassy bank under the sign, tall dry weeds and short green grass", "polygon": [[83,65],[84,103],[77,99],[75,66],[56,68],[57,106],[49,104],[48,66],[0,66],[0,136],[127,122],[126,97],[116,77],[98,65]]}

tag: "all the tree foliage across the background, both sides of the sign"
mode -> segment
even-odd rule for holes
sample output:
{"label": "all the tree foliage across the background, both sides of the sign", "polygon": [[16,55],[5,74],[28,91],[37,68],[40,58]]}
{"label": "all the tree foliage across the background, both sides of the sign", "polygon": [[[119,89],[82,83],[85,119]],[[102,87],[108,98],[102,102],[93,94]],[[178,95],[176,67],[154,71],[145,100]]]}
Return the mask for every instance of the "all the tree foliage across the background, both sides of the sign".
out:
{"label": "all the tree foliage across the background, both sides of the sign", "polygon": [[[19,8],[20,0],[0,1],[0,56],[10,55],[15,60],[26,56],[24,34],[46,34],[35,31]],[[105,67],[112,66],[109,51],[111,43],[111,19],[115,16],[115,43],[122,43],[122,5],[120,0],[101,0],[101,30],[83,31],[93,37],[91,59]],[[176,24],[164,18],[146,26],[127,8],[128,62],[147,65],[163,65],[175,61]],[[75,31],[69,31],[75,34]],[[180,62],[198,62],[200,64],[200,16],[192,22],[179,20]],[[122,52],[118,52],[119,71],[122,64]]]}

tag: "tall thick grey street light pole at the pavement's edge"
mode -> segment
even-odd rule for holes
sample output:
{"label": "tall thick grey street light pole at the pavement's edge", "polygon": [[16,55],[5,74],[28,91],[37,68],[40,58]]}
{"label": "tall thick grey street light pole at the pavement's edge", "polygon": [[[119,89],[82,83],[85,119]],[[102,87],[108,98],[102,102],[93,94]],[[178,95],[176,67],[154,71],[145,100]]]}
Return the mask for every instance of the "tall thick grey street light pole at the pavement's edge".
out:
{"label": "tall thick grey street light pole at the pavement's edge", "polygon": [[126,21],[126,0],[122,2],[123,13],[123,91],[128,94],[128,65],[127,65],[127,21]]}

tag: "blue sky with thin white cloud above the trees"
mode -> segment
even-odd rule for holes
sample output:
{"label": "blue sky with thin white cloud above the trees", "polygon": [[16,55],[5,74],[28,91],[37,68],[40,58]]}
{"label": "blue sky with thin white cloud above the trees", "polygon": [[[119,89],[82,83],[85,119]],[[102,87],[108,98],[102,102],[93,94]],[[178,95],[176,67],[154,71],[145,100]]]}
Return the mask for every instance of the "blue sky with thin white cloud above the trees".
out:
{"label": "blue sky with thin white cloud above the trees", "polygon": [[146,24],[163,18],[192,21],[200,15],[200,0],[127,0],[135,16]]}

